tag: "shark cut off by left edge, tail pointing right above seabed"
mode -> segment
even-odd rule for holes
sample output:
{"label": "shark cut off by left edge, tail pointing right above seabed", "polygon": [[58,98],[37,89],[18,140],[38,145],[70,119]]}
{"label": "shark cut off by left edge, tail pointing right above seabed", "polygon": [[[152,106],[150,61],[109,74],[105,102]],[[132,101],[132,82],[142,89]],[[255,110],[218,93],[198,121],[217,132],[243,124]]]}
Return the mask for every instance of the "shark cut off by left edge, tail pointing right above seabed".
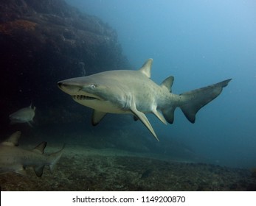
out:
{"label": "shark cut off by left edge, tail pointing right above seabed", "polygon": [[32,166],[38,177],[42,176],[44,166],[49,166],[50,171],[52,171],[60,159],[63,149],[46,155],[44,154],[46,142],[40,143],[32,151],[21,149],[18,146],[20,136],[20,131],[14,132],[10,138],[0,144],[0,174],[7,172],[26,174],[25,168],[27,166]]}

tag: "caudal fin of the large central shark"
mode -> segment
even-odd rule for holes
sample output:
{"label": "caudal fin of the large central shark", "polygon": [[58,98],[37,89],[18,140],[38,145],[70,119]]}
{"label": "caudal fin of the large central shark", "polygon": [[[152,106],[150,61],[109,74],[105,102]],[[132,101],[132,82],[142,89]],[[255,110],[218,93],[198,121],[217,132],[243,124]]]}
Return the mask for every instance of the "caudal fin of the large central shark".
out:
{"label": "caudal fin of the large central shark", "polygon": [[214,85],[181,93],[181,104],[179,104],[179,107],[187,119],[194,123],[196,121],[196,113],[198,110],[215,99],[221,93],[222,89],[228,85],[230,80],[231,79],[226,79],[225,81],[218,82]]}

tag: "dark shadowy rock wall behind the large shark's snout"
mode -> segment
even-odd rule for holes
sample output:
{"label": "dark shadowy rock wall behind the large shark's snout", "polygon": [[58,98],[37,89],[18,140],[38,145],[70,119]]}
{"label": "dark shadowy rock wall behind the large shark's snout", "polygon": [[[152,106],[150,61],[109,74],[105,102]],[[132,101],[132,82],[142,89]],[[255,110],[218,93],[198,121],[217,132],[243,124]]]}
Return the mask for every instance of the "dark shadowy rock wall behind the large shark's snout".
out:
{"label": "dark shadowy rock wall behind the large shark's snout", "polygon": [[41,124],[61,123],[63,110],[80,108],[57,88],[61,79],[129,68],[117,32],[63,0],[0,1],[0,54],[1,131],[10,113],[31,102],[44,113]]}

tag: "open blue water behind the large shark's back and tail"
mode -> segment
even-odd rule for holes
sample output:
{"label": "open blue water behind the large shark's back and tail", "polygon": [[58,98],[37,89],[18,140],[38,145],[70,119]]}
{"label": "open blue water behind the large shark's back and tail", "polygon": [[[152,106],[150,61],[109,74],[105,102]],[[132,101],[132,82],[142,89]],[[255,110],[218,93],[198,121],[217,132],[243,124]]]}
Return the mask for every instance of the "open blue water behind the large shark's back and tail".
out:
{"label": "open blue water behind the large shark's back and tail", "polygon": [[160,141],[179,138],[212,163],[256,167],[256,1],[66,1],[117,30],[133,69],[153,58],[153,81],[173,75],[173,93],[232,78],[195,124],[179,109],[173,125],[149,120]]}

